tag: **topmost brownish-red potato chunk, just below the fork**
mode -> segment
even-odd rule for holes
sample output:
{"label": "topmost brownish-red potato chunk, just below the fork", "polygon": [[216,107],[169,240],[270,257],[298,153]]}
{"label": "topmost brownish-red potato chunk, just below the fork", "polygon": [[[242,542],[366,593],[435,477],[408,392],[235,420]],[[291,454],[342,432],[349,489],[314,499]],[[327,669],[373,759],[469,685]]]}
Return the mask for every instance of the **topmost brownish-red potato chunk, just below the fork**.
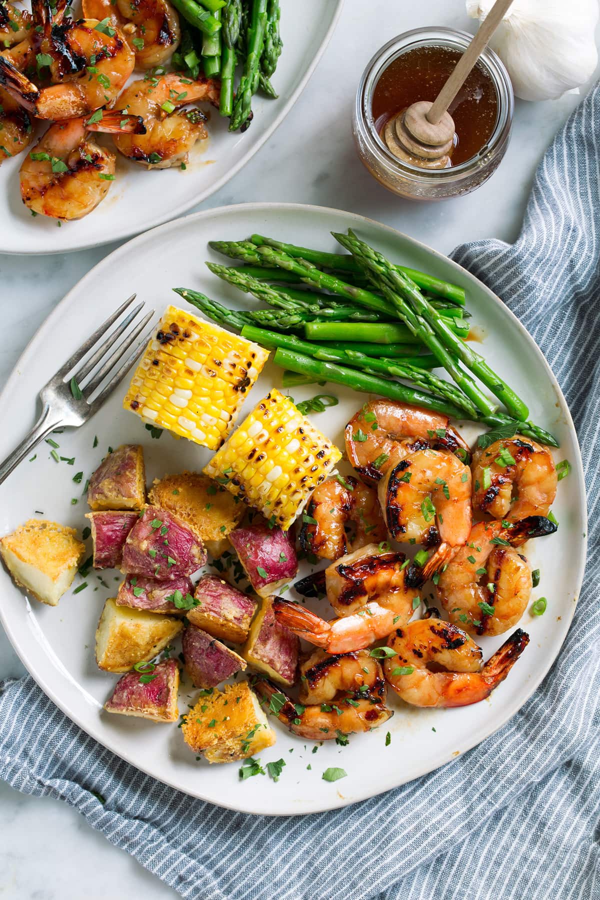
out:
{"label": "topmost brownish-red potato chunk, just below the fork", "polygon": [[141,509],[146,502],[144,452],[123,444],[98,466],[87,489],[91,509]]}

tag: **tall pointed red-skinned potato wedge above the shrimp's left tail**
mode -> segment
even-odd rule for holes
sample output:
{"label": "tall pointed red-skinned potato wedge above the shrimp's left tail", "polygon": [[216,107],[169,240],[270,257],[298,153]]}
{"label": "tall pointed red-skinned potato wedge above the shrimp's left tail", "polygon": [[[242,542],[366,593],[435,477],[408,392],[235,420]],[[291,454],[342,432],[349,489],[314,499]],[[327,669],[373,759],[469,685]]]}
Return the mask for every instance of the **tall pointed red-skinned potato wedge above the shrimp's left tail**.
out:
{"label": "tall pointed red-skinned potato wedge above the shrimp's left tail", "polygon": [[258,671],[279,684],[296,680],[300,640],[275,618],[273,598],[264,598],[250,626],[242,655]]}

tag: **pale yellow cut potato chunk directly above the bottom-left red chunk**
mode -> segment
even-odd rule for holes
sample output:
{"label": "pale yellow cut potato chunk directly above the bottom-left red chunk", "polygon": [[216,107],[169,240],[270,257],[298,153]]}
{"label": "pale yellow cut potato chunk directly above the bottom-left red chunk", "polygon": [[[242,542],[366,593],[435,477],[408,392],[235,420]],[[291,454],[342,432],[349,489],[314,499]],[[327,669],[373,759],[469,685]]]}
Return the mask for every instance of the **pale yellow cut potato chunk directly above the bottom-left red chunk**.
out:
{"label": "pale yellow cut potato chunk directly above the bottom-left red chunk", "polygon": [[184,626],[181,621],[143,609],[118,607],[109,598],[96,628],[96,662],[109,672],[130,671],[164,650]]}

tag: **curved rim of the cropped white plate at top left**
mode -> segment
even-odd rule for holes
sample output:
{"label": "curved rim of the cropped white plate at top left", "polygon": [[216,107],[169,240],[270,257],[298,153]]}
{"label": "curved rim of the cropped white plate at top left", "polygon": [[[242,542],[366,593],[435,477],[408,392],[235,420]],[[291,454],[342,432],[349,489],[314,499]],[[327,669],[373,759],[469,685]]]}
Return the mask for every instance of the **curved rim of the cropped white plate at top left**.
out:
{"label": "curved rim of the cropped white plate at top left", "polygon": [[[239,172],[240,169],[246,166],[246,163],[248,163],[252,159],[252,157],[255,156],[258,150],[263,147],[264,142],[271,137],[276,129],[279,128],[288,112],[291,111],[291,107],[294,105],[294,103],[296,103],[306,85],[308,85],[309,78],[317,68],[320,58],[325,53],[329,41],[333,37],[337,22],[340,15],[342,14],[342,9],[344,8],[345,0],[336,0],[336,4],[336,12],[333,15],[331,23],[329,23],[329,27],[327,28],[327,31],[323,36],[323,40],[321,40],[318,46],[317,53],[312,58],[309,67],[300,79],[300,82],[296,86],[295,91],[293,91],[293,93],[290,95],[287,102],[283,104],[281,112],[279,112],[276,119],[271,123],[269,128],[264,130],[264,134],[257,140],[254,148],[252,148],[252,150],[250,150],[247,155],[243,156],[235,166],[232,166],[226,175],[222,175],[222,177],[220,177],[214,184],[211,184],[210,187],[205,191],[201,191],[200,193],[194,195],[189,201],[186,200],[185,202],[180,203],[179,206],[175,207],[175,209],[169,210],[165,215],[159,216],[157,220],[154,220],[152,222],[150,229],[158,228],[160,225],[164,225],[167,221],[178,219],[182,216],[182,213],[191,209],[196,205],[196,203],[201,203],[205,200],[208,200],[208,198],[211,197],[213,193],[219,191],[219,189],[223,187],[224,184],[227,184],[234,175],[237,175],[237,172]],[[103,247],[104,244],[112,244],[116,240],[126,240],[127,238],[137,237],[137,234],[147,234],[148,230],[150,229],[144,229],[141,232],[136,232],[135,229],[133,231],[130,231],[127,229],[127,227],[124,227],[123,229],[113,233],[110,238],[102,238],[101,240],[89,240],[85,244],[78,244],[76,247],[59,247],[57,250],[40,250],[38,248],[31,250],[28,250],[26,248],[23,248],[22,250],[4,250],[2,246],[0,246],[0,256],[6,255],[15,257],[51,257],[57,253],[76,253],[78,250],[89,250],[92,247]]]}

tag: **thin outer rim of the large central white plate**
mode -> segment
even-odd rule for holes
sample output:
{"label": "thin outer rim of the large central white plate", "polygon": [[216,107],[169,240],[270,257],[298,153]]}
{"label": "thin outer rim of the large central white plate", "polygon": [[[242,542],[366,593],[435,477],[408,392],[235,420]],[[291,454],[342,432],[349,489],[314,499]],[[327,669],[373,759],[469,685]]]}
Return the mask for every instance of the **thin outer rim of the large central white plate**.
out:
{"label": "thin outer rim of the large central white plate", "polygon": [[[147,240],[149,235],[154,235],[154,233],[157,230],[162,230],[162,231],[166,232],[168,229],[178,229],[178,228],[185,227],[186,224],[189,224],[193,221],[207,219],[207,218],[210,218],[210,216],[214,216],[214,215],[235,214],[239,210],[255,211],[256,213],[261,213],[261,212],[270,211],[270,210],[273,210],[273,211],[276,211],[276,210],[299,211],[300,214],[312,211],[312,212],[318,213],[319,215],[321,215],[323,213],[333,213],[336,215],[347,216],[349,218],[349,225],[352,220],[354,222],[354,227],[357,227],[357,228],[360,227],[361,222],[368,222],[370,225],[373,225],[378,229],[385,229],[386,231],[389,231],[390,234],[392,234],[392,235],[397,235],[400,238],[402,238],[403,240],[408,240],[410,243],[414,244],[420,250],[425,251],[426,253],[429,253],[432,256],[443,260],[444,265],[450,265],[457,272],[461,273],[461,275],[463,275],[463,276],[466,275],[468,280],[470,280],[478,285],[479,290],[482,290],[484,293],[487,294],[490,302],[495,303],[502,308],[502,310],[508,316],[509,320],[512,321],[515,328],[521,332],[522,336],[524,337],[524,339],[527,341],[527,343],[531,347],[533,353],[535,353],[536,356],[538,356],[539,360],[542,362],[542,365],[544,366],[544,368],[546,370],[546,373],[551,381],[554,391],[556,392],[557,397],[559,398],[560,412],[565,417],[565,421],[566,421],[568,427],[572,430],[572,433],[575,436],[574,446],[577,451],[577,458],[575,460],[571,460],[570,462],[571,462],[571,465],[578,472],[578,487],[579,487],[578,509],[580,509],[582,512],[582,518],[583,518],[583,522],[584,522],[584,526],[585,526],[585,535],[582,536],[581,543],[579,545],[580,553],[579,553],[578,560],[577,560],[578,572],[577,572],[576,584],[574,586],[574,594],[578,598],[579,592],[581,590],[581,584],[583,582],[585,561],[586,561],[586,556],[587,556],[587,496],[586,496],[586,491],[585,491],[585,483],[586,483],[585,482],[585,474],[584,474],[584,470],[583,470],[583,463],[581,460],[581,453],[580,453],[579,445],[578,445],[577,432],[575,430],[575,426],[574,426],[573,419],[572,419],[570,411],[569,411],[569,407],[567,405],[567,401],[565,400],[564,395],[560,389],[560,384],[558,383],[554,374],[552,373],[551,367],[550,367],[550,365],[548,365],[548,362],[546,361],[545,356],[543,356],[541,349],[537,346],[537,344],[533,340],[532,336],[529,334],[527,329],[525,329],[524,325],[516,318],[515,313],[512,312],[511,310],[509,310],[508,307],[506,306],[506,304],[503,303],[499,297],[497,297],[497,294],[493,293],[485,284],[480,282],[479,279],[475,275],[471,275],[471,273],[467,269],[464,269],[462,266],[459,266],[458,263],[455,263],[449,257],[445,257],[442,253],[439,253],[437,250],[434,250],[432,247],[427,247],[427,245],[423,244],[421,241],[418,241],[415,238],[410,238],[408,235],[404,234],[403,232],[399,231],[398,229],[394,229],[390,225],[385,225],[382,222],[378,222],[377,220],[370,219],[367,216],[362,216],[356,212],[348,212],[345,210],[336,210],[331,207],[316,206],[313,204],[305,204],[305,203],[280,203],[280,202],[234,203],[229,206],[219,206],[219,207],[216,207],[216,208],[213,208],[210,210],[194,212],[189,216],[184,216],[184,218],[182,218],[182,219],[176,219],[176,220],[165,222],[161,225],[158,225],[156,228],[145,231],[143,234],[140,234],[140,235],[136,236],[135,238],[131,238],[125,244],[122,244],[121,247],[117,247],[116,250],[113,250],[112,253],[109,254],[107,257],[104,257],[103,260],[101,260],[99,263],[96,264],[96,266],[94,266],[94,268],[90,269],[90,271],[86,275],[84,275],[83,278],[81,278],[71,288],[71,290],[62,299],[62,301],[60,301],[58,303],[58,305],[55,307],[55,309],[49,314],[49,317],[44,321],[43,325],[38,330],[37,334],[34,335],[33,338],[31,338],[31,341],[28,343],[27,347],[25,347],[25,349],[23,350],[22,356],[19,357],[16,365],[14,366],[13,372],[9,376],[8,381],[6,382],[6,384],[4,386],[4,390],[0,393],[0,415],[2,412],[3,404],[7,403],[8,397],[10,396],[10,394],[13,390],[13,385],[15,385],[16,379],[18,378],[18,371],[19,371],[20,366],[22,365],[23,357],[28,356],[31,352],[33,352],[35,350],[36,344],[43,338],[43,335],[45,334],[47,329],[51,329],[54,319],[58,318],[59,314],[61,313],[62,307],[67,305],[70,302],[71,297],[74,294],[79,293],[79,291],[82,289],[85,289],[85,286],[86,286],[88,280],[92,280],[94,277],[101,274],[101,270],[102,270],[103,266],[111,265],[112,261],[116,257],[121,256],[121,254],[123,254],[123,255],[129,254],[131,252],[131,249],[135,249],[135,247],[138,244],[141,244],[142,242]],[[19,438],[17,438],[17,440],[18,439]],[[455,744],[456,751],[458,751],[458,753],[456,751],[452,752],[451,755],[449,755],[448,753],[440,753],[438,758],[434,757],[433,760],[432,760],[432,758],[430,758],[427,761],[427,763],[424,765],[423,770],[419,770],[418,772],[416,772],[416,774],[412,774],[410,778],[402,779],[402,777],[399,776],[399,778],[397,780],[395,780],[393,784],[388,785],[386,788],[381,788],[381,790],[377,790],[374,793],[369,788],[365,788],[364,792],[361,793],[359,797],[356,797],[355,795],[351,799],[345,799],[345,797],[340,797],[339,801],[336,803],[333,803],[333,804],[329,800],[325,805],[318,806],[317,808],[307,810],[306,812],[299,813],[297,810],[294,810],[294,809],[285,809],[285,810],[281,810],[281,811],[278,811],[275,813],[269,813],[269,814],[255,813],[251,809],[243,809],[243,808],[240,808],[240,806],[231,806],[227,803],[217,803],[211,797],[204,797],[201,794],[201,792],[198,792],[198,791],[193,791],[193,790],[185,791],[183,788],[181,788],[181,786],[179,784],[176,784],[171,779],[158,778],[154,772],[150,772],[150,771],[148,771],[148,769],[140,766],[139,763],[135,759],[133,759],[130,755],[115,751],[113,749],[113,747],[110,744],[105,743],[105,741],[103,740],[103,737],[98,734],[98,728],[90,727],[89,725],[84,724],[80,720],[79,716],[73,716],[68,711],[68,709],[62,704],[60,699],[57,696],[55,696],[54,692],[49,689],[46,689],[46,687],[43,684],[43,678],[40,675],[40,672],[37,671],[36,666],[30,665],[29,661],[26,662],[22,656],[22,653],[20,653],[19,647],[17,646],[17,644],[15,643],[15,640],[13,639],[13,634],[12,634],[11,628],[9,626],[9,623],[8,623],[6,617],[4,616],[4,610],[1,605],[0,605],[0,622],[2,622],[2,625],[4,626],[6,635],[8,636],[9,640],[11,641],[11,644],[13,644],[14,651],[15,651],[15,653],[17,653],[17,655],[21,659],[22,664],[25,666],[27,671],[30,672],[31,677],[37,681],[37,683],[40,685],[40,688],[50,698],[50,700],[52,700],[52,702],[59,709],[61,709],[65,713],[65,715],[69,719],[71,719],[72,722],[75,722],[75,724],[78,725],[82,729],[82,731],[85,732],[85,734],[89,734],[91,737],[94,738],[95,741],[100,743],[103,747],[106,747],[106,749],[109,750],[110,752],[114,753],[115,756],[119,756],[122,760],[130,763],[130,765],[134,766],[136,769],[145,772],[150,778],[157,779],[157,781],[160,781],[163,784],[168,785],[169,787],[175,788],[175,790],[181,791],[182,793],[186,793],[190,797],[197,797],[198,799],[207,801],[207,802],[213,804],[214,806],[222,806],[226,809],[235,810],[236,812],[244,812],[244,813],[248,813],[250,815],[312,815],[313,813],[327,812],[328,810],[340,808],[342,806],[350,806],[351,804],[359,803],[363,800],[369,799],[370,797],[376,797],[379,794],[386,793],[388,790],[392,790],[393,788],[398,788],[398,787],[400,787],[400,785],[406,784],[408,781],[414,781],[415,779],[420,778],[423,775],[427,775],[430,772],[435,771],[444,765],[447,765],[448,763],[454,761],[455,759],[458,759],[460,756],[462,756],[462,754],[464,752],[470,750],[472,747],[475,747],[477,744],[486,740],[491,734],[495,734],[495,732],[497,732],[498,729],[500,729],[503,725],[505,725],[509,719],[511,719],[513,716],[515,716],[515,714],[519,711],[519,709],[521,709],[521,707],[524,706],[524,704],[527,702],[527,700],[529,700],[529,698],[532,697],[533,693],[539,687],[539,685],[542,683],[542,680],[545,678],[548,671],[550,671],[553,662],[557,659],[558,654],[560,653],[560,648],[561,648],[562,644],[564,643],[565,637],[567,636],[567,633],[569,631],[569,627],[571,624],[571,620],[575,613],[576,606],[577,606],[577,603],[573,603],[573,606],[570,611],[570,615],[563,616],[560,619],[560,631],[561,631],[561,634],[559,635],[560,644],[558,644],[556,653],[549,657],[547,662],[543,666],[540,667],[540,670],[536,673],[535,677],[530,682],[528,682],[527,689],[525,691],[525,696],[523,697],[523,695],[522,695],[520,698],[515,699],[514,702],[511,702],[508,705],[508,708],[505,711],[504,715],[500,716],[498,718],[497,722],[495,723],[495,727],[492,728],[491,731],[488,731],[488,728],[486,726],[482,729],[484,734],[481,734],[481,732],[479,730],[476,730],[476,731],[471,732],[468,736],[461,737],[461,740]],[[433,765],[432,765],[432,761],[434,763]],[[365,781],[365,783],[368,783],[368,782]]]}

